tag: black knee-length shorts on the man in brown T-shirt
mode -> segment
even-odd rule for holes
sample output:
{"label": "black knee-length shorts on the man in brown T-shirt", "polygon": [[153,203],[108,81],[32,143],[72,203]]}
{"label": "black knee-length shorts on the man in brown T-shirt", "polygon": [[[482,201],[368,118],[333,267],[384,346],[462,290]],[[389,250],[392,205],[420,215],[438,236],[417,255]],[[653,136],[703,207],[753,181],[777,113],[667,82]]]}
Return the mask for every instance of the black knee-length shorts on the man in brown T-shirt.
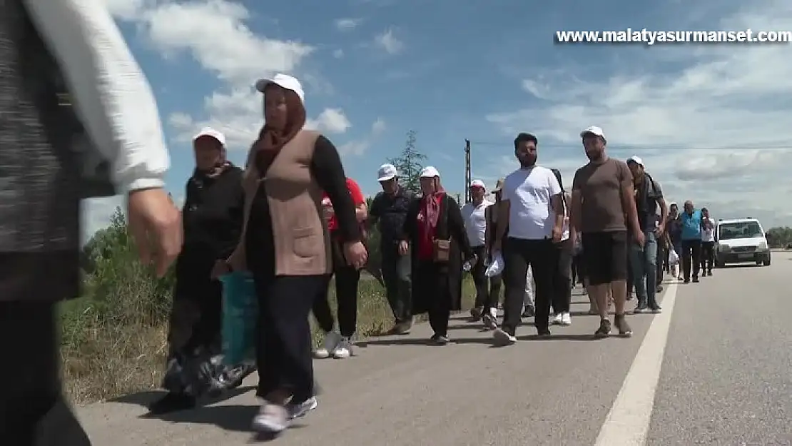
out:
{"label": "black knee-length shorts on the man in brown T-shirt", "polygon": [[627,279],[627,232],[582,234],[583,257],[588,284],[610,284]]}

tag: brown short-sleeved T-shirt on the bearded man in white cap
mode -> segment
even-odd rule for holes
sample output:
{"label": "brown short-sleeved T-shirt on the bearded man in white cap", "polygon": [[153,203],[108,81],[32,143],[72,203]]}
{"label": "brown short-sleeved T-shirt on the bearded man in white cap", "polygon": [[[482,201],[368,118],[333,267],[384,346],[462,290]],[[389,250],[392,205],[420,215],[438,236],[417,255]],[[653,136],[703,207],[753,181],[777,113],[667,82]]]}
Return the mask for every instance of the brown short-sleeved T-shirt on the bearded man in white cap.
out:
{"label": "brown short-sleeved T-shirt on the bearded man in white cap", "polygon": [[622,187],[632,190],[633,174],[626,162],[608,158],[589,162],[575,172],[572,190],[581,192],[581,232],[626,231]]}

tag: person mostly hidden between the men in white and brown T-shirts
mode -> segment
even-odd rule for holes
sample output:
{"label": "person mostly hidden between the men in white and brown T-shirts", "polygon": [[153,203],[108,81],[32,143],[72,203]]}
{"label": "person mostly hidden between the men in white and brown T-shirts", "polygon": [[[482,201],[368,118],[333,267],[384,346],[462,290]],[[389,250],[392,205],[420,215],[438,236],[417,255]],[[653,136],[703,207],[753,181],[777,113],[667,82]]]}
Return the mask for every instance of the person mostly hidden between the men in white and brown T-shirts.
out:
{"label": "person mostly hidden between the men in white and brown T-shirts", "polygon": [[561,197],[565,215],[561,242],[558,242],[554,246],[555,249],[558,250],[556,257],[558,259],[558,265],[553,270],[553,296],[551,304],[555,317],[550,322],[562,326],[569,326],[572,325],[572,318],[569,316],[569,306],[572,300],[572,256],[574,246],[572,245],[572,240],[569,239],[569,207],[567,204],[572,197],[564,190],[564,181],[562,181],[561,172],[558,169],[550,170],[558,180],[558,185],[561,186]]}

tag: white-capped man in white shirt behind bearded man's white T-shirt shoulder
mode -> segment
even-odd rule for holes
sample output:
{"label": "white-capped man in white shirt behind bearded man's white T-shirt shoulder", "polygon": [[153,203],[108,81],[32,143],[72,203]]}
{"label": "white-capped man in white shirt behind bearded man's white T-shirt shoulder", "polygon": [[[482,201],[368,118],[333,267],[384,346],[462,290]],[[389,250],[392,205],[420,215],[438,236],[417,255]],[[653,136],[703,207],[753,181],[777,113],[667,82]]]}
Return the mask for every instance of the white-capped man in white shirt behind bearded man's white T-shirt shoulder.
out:
{"label": "white-capped man in white shirt behind bearded man's white T-shirt shoulder", "polygon": [[[484,182],[481,180],[470,181],[470,198],[472,201],[462,207],[462,218],[465,222],[465,231],[467,232],[467,239],[470,241],[470,248],[480,259],[487,258],[486,253],[486,209],[493,203],[486,200],[484,195],[486,188]],[[489,280],[485,276],[486,270],[485,262],[477,261],[470,274],[473,276],[473,282],[476,285],[476,303],[470,309],[470,315],[474,321],[482,318],[482,309],[484,307],[491,307],[489,303]]]}

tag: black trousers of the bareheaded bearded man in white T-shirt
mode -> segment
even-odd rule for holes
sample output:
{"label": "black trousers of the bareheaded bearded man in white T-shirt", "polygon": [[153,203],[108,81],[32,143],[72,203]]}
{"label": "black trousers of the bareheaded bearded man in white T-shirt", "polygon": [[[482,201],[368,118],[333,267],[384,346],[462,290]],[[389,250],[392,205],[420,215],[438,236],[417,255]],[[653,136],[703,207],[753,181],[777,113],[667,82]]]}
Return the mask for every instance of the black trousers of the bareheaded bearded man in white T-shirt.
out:
{"label": "black trousers of the bareheaded bearded man in white T-shirt", "polygon": [[536,282],[536,330],[547,330],[550,324],[550,303],[553,299],[553,277],[555,269],[558,268],[558,250],[550,239],[524,238],[508,238],[503,249],[504,261],[508,265],[505,270],[503,330],[513,335],[520,324],[529,266],[533,269]]}

